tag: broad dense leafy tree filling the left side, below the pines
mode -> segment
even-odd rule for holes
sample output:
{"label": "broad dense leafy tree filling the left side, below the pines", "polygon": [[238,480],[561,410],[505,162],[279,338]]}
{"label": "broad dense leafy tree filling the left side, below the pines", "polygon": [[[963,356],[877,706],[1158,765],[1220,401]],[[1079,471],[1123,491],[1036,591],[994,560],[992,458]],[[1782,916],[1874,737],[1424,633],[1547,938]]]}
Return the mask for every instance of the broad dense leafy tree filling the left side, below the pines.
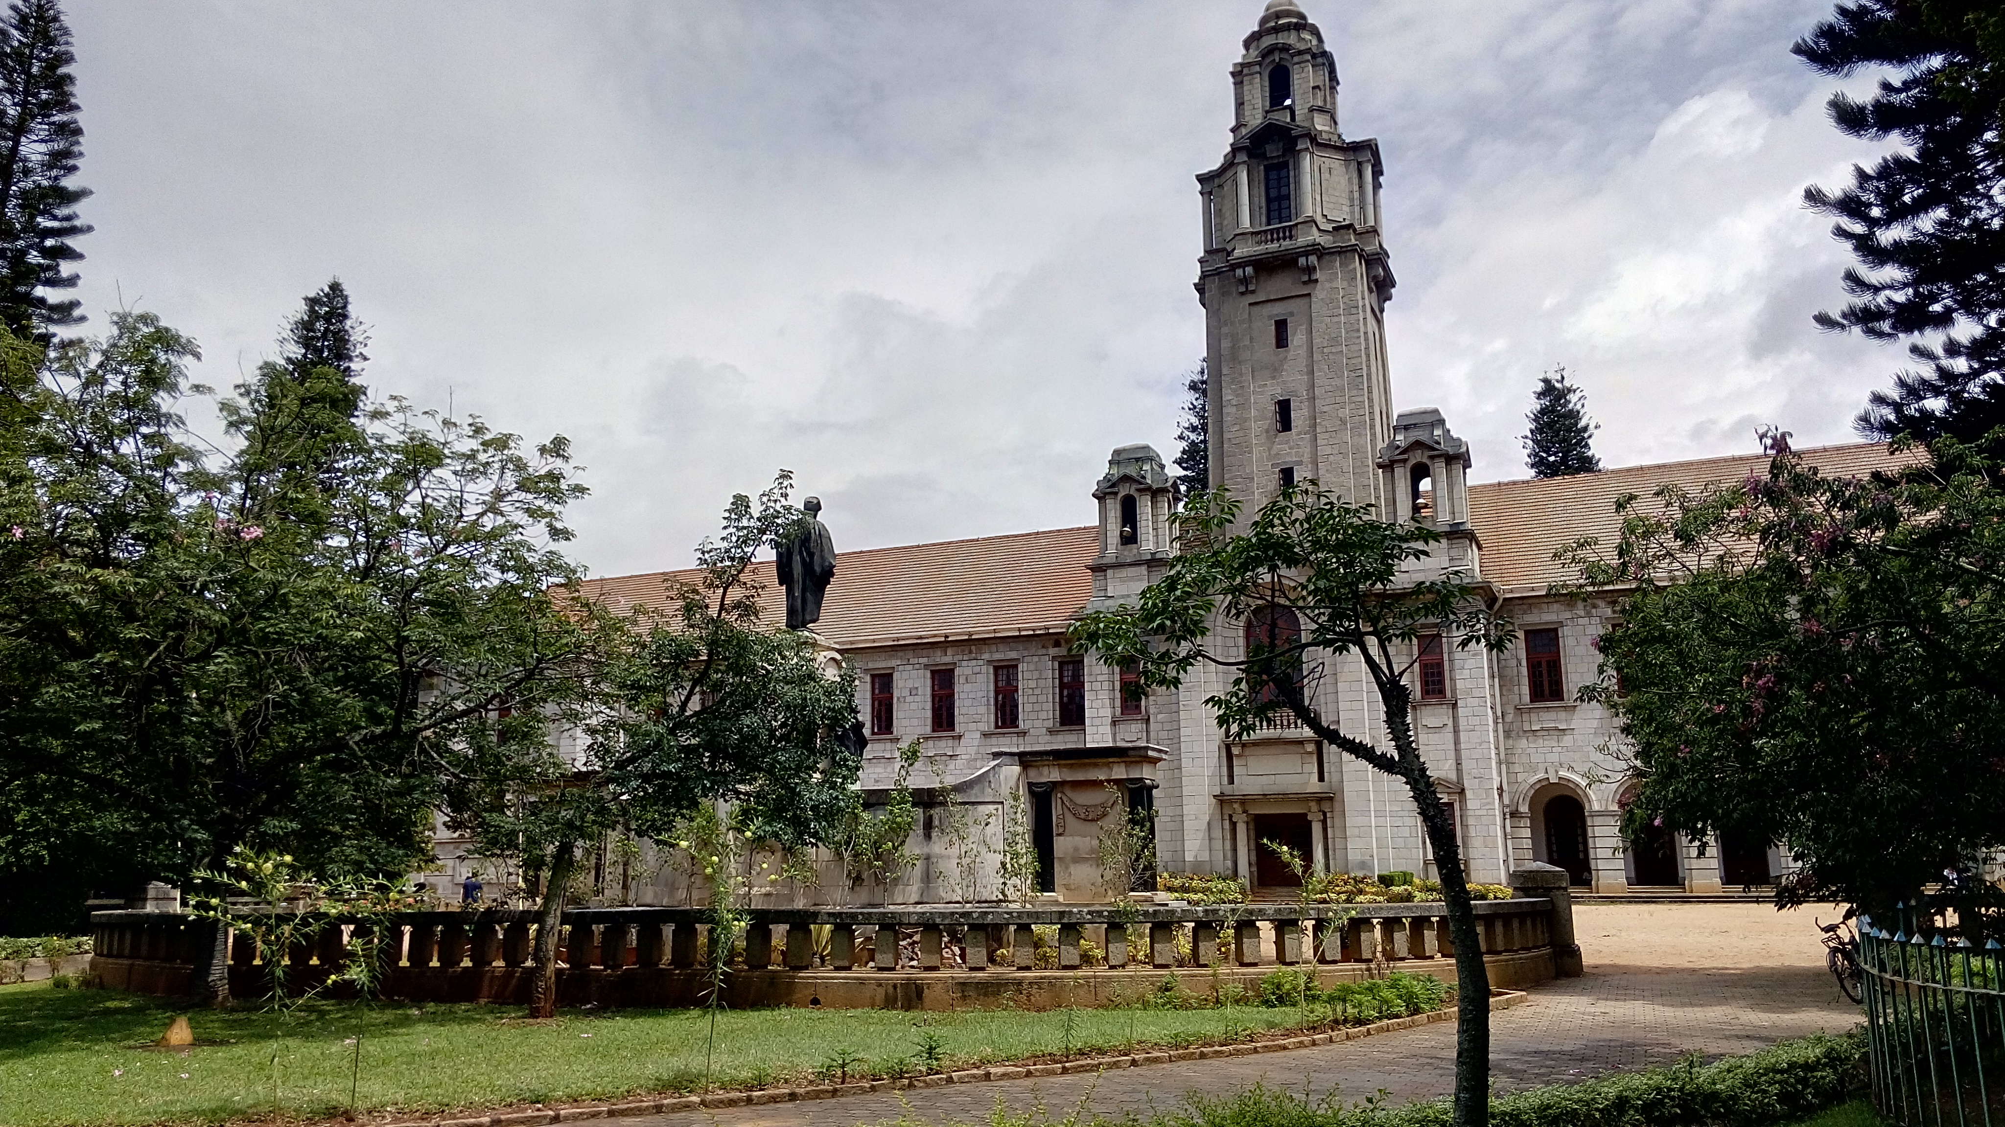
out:
{"label": "broad dense leafy tree filling the left side, below the pines", "polygon": [[[192,357],[116,315],[50,349],[0,447],[0,870],[184,882],[249,846],[409,872],[447,748],[543,744],[497,714],[589,698],[591,624],[559,602],[567,443],[401,401],[261,409],[289,399],[253,385],[227,419],[269,441],[211,469],[172,411]],[[333,479],[261,455],[327,423]]]}

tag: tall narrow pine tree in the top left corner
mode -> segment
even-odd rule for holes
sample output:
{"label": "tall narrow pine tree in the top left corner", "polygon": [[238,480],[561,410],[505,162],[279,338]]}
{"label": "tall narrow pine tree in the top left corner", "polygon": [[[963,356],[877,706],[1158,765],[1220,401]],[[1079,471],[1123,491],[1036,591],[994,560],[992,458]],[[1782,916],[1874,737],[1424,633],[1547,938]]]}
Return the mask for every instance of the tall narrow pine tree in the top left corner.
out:
{"label": "tall narrow pine tree in the top left corner", "polygon": [[0,22],[0,325],[22,339],[84,317],[68,263],[82,259],[70,239],[88,235],[76,205],[88,189],[70,184],[84,156],[76,124],[70,28],[56,0],[18,0]]}

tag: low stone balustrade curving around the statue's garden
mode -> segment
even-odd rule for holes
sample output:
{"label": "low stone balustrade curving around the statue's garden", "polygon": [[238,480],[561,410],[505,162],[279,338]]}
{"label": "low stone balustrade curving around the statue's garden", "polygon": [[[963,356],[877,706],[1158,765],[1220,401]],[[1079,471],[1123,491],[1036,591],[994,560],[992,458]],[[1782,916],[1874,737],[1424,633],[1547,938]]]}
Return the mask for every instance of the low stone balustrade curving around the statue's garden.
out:
{"label": "low stone balustrade curving around the statue's garden", "polygon": [[[1568,973],[1566,890],[1536,890],[1548,894],[1476,904],[1496,985]],[[964,1007],[1075,1005],[1077,991],[1051,981],[1091,975],[1091,997],[1105,999],[1123,979],[1155,983],[1181,971],[1241,981],[1275,967],[1315,969],[1323,979],[1387,969],[1454,979],[1454,941],[1438,902],[754,908],[744,918],[732,943],[732,1005],[938,1009],[942,995],[944,1005]],[[213,926],[180,912],[96,912],[92,971],[110,987],[184,993],[198,953],[215,943]],[[295,947],[291,981],[331,975],[355,926],[331,924]],[[533,910],[399,912],[381,926],[385,997],[527,997]],[[704,953],[716,926],[708,908],[573,908],[561,926],[559,997],[571,1005],[692,1005],[710,977]],[[229,959],[233,989],[261,993],[255,945],[231,934]],[[954,985],[942,991],[946,981]],[[1057,997],[1073,1001],[1049,1001]]]}

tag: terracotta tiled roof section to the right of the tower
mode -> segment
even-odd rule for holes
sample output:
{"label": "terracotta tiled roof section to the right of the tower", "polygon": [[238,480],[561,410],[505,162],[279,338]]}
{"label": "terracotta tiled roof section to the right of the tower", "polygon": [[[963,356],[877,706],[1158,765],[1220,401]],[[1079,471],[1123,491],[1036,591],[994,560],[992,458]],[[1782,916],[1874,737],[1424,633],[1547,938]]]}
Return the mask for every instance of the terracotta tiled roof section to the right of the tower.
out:
{"label": "terracotta tiled roof section to the right of the tower", "polygon": [[[1885,443],[1825,445],[1800,453],[1827,475],[1861,475],[1925,457],[1919,451],[1895,457]],[[1570,578],[1552,559],[1556,549],[1584,535],[1614,543],[1622,529],[1616,519],[1616,497],[1622,493],[1648,497],[1666,481],[1698,489],[1766,469],[1768,455],[1750,453],[1470,485],[1470,523],[1482,539],[1482,574],[1500,588],[1544,590],[1546,584]]]}

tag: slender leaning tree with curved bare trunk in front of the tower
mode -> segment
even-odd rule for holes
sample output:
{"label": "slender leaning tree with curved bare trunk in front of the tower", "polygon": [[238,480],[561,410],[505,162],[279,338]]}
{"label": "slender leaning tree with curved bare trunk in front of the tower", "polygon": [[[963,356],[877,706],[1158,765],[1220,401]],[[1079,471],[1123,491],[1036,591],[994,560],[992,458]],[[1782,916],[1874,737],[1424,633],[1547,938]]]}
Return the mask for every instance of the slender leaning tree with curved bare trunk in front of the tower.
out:
{"label": "slender leaning tree with curved bare trunk in front of the tower", "polygon": [[[1073,644],[1109,666],[1133,662],[1151,688],[1175,688],[1199,664],[1231,670],[1231,684],[1205,702],[1227,740],[1291,714],[1329,746],[1406,784],[1442,872],[1456,943],[1456,1123],[1480,1125],[1490,1099],[1490,977],[1462,846],[1414,738],[1408,674],[1424,634],[1502,650],[1512,628],[1462,576],[1401,580],[1401,566],[1428,557],[1442,539],[1426,525],[1381,521],[1315,485],[1285,489],[1245,533],[1231,535],[1237,521],[1239,501],[1223,491],[1193,497],[1177,515],[1185,547],[1163,578],[1129,606],[1083,616]],[[1335,664],[1363,668],[1381,732],[1345,732],[1321,710],[1333,692],[1317,690]]]}

